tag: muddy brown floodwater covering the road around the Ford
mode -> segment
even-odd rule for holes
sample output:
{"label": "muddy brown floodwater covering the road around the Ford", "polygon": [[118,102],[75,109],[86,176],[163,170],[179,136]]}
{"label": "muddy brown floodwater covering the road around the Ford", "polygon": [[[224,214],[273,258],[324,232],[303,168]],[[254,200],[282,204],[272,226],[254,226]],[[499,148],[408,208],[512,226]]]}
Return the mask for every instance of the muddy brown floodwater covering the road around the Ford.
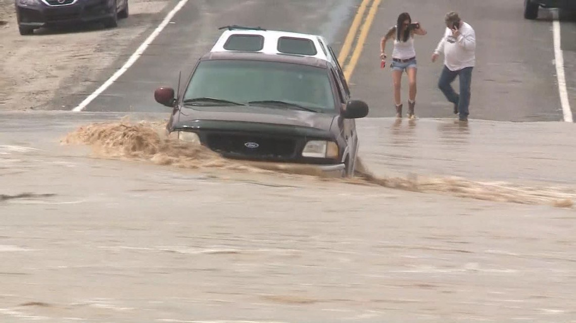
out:
{"label": "muddy brown floodwater covering the road around the Ford", "polygon": [[131,120],[0,114],[0,321],[576,322],[563,124],[363,120],[339,180]]}

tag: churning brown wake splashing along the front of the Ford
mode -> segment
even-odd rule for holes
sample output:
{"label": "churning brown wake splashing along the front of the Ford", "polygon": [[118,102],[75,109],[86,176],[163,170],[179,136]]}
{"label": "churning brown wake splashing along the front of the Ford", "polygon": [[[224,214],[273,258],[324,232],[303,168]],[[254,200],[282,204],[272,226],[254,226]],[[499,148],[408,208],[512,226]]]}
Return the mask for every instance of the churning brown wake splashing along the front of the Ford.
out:
{"label": "churning brown wake splashing along the front of the Ford", "polygon": [[[108,159],[141,160],[191,169],[220,168],[265,174],[311,175],[326,180],[325,176],[313,167],[225,159],[203,146],[168,139],[164,130],[165,125],[166,121],[132,123],[127,118],[123,118],[119,122],[81,126],[67,134],[62,143],[90,145],[94,155]],[[360,159],[357,164],[358,175],[354,178],[331,180],[485,201],[541,204],[566,208],[573,208],[573,201],[576,201],[576,190],[573,188],[530,187],[507,182],[475,182],[456,177],[385,177],[372,174]]]}

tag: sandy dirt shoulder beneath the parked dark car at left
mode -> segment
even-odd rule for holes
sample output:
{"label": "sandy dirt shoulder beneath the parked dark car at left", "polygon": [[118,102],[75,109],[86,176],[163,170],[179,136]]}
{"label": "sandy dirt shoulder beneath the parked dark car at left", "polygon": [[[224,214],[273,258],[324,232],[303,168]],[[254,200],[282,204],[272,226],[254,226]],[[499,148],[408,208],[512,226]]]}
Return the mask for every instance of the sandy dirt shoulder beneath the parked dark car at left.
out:
{"label": "sandy dirt shoulder beneath the parked dark car at left", "polygon": [[0,0],[0,110],[69,109],[57,105],[61,89],[66,94],[96,89],[164,18],[172,2],[130,0],[130,16],[115,29],[93,24],[21,36],[14,1]]}

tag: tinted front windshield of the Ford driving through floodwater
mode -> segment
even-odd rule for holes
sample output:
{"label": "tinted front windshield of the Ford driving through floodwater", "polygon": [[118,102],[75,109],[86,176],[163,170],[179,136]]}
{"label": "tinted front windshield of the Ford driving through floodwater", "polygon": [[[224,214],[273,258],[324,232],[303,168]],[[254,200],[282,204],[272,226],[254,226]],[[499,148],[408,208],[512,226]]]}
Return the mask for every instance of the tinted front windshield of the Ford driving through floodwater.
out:
{"label": "tinted front windshield of the Ford driving through floodwater", "polygon": [[279,100],[333,112],[334,92],[325,68],[277,61],[201,61],[184,99],[212,97],[234,102]]}

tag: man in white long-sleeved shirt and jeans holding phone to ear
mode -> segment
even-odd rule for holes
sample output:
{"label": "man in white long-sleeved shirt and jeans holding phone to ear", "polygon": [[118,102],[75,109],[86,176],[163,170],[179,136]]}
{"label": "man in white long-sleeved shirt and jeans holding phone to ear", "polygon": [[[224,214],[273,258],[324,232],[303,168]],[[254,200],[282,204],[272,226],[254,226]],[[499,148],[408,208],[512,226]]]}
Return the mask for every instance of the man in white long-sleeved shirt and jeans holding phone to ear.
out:
{"label": "man in white long-sleeved shirt and jeans holding phone to ear", "polygon": [[[444,53],[444,69],[438,87],[446,99],[454,103],[454,114],[460,113],[460,121],[468,121],[472,68],[476,63],[476,33],[454,11],[447,13],[444,20],[444,36],[432,54],[434,62],[440,53]],[[456,76],[460,81],[460,94],[454,92],[451,85]]]}

